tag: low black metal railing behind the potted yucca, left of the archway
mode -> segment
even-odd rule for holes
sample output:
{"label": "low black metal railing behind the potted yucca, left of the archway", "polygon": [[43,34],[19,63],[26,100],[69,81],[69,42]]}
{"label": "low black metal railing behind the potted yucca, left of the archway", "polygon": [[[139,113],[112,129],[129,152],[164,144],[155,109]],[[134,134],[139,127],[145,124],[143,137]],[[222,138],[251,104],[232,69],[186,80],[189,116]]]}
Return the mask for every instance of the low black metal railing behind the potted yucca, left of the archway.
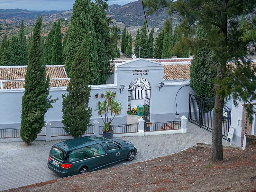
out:
{"label": "low black metal railing behind the potted yucca, left of the archway", "polygon": [[[99,135],[103,134],[103,126],[99,126]],[[114,134],[139,132],[139,124],[111,125]]]}

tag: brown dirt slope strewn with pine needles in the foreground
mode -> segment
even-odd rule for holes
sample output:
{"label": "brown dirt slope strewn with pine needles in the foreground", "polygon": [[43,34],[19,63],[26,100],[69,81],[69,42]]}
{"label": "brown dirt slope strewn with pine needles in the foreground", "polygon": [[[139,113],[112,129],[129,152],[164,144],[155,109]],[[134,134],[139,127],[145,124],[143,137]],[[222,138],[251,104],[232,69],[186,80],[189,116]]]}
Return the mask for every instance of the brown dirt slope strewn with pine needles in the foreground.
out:
{"label": "brown dirt slope strewn with pine needles in the foreground", "polygon": [[224,161],[212,162],[211,149],[188,148],[178,154],[38,183],[12,192],[32,191],[160,192],[256,191],[256,144],[224,149]]}

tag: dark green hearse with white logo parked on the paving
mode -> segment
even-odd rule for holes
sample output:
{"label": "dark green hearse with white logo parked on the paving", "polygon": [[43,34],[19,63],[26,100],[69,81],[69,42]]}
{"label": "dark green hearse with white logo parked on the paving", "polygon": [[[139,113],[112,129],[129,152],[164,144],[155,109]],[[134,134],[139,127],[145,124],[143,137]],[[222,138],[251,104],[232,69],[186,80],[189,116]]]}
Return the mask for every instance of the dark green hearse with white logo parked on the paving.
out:
{"label": "dark green hearse with white logo parked on the paving", "polygon": [[136,147],[129,141],[86,136],[54,144],[48,168],[61,176],[87,173],[127,159],[132,161]]}

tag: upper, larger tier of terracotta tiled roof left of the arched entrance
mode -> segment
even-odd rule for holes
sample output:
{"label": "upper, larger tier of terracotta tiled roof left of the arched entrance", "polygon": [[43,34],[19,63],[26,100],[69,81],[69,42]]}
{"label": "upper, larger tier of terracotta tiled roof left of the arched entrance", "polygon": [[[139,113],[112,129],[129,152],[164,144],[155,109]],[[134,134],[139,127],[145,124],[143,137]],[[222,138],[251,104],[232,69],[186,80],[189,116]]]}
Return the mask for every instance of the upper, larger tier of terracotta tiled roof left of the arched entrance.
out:
{"label": "upper, larger tier of terracotta tiled roof left of the arched entrance", "polygon": [[[62,66],[48,66],[47,69],[46,74],[50,76],[50,79],[67,78]],[[26,71],[26,67],[0,68],[0,80],[25,79]]]}

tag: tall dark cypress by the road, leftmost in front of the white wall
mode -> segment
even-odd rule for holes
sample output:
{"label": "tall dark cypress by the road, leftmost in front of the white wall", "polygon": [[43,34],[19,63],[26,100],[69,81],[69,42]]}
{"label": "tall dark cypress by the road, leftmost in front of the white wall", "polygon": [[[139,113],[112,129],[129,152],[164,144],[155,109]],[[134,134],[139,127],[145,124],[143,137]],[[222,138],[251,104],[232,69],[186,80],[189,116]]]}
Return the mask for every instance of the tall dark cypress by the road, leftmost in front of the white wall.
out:
{"label": "tall dark cypress by the road, leftmost in front of the white wall", "polygon": [[46,77],[46,67],[41,52],[42,17],[38,17],[33,29],[33,38],[29,52],[29,63],[25,75],[25,92],[22,97],[21,138],[26,145],[36,139],[45,124],[45,113],[56,100],[48,98],[50,79]]}

